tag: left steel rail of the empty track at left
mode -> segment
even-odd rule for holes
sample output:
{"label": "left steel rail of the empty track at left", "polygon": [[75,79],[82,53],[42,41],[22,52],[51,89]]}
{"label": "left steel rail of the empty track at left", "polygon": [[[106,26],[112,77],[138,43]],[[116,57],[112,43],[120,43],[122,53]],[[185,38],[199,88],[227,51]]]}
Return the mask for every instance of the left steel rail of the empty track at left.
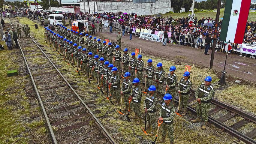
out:
{"label": "left steel rail of the empty track at left", "polygon": [[[10,19],[10,18],[9,18],[9,19]],[[16,19],[16,18],[15,18],[15,19]],[[11,23],[11,26],[12,26],[12,28],[13,28],[11,19],[10,19],[10,23]],[[20,22],[19,22],[19,23],[20,23]],[[18,40],[17,40],[17,42],[18,42],[18,44],[19,44],[20,51],[21,51],[21,53],[22,53],[23,59],[24,59],[25,64],[26,64],[26,67],[27,67],[27,69],[28,69],[28,71],[29,71],[29,76],[30,76],[30,79],[31,79],[31,81],[32,81],[34,90],[35,90],[35,92],[36,92],[36,95],[37,95],[37,98],[38,98],[38,101],[39,101],[39,104],[40,104],[40,107],[41,107],[41,111],[42,111],[43,116],[44,116],[44,118],[45,118],[45,121],[46,121],[46,124],[47,124],[47,129],[48,129],[48,131],[50,132],[51,141],[52,141],[52,143],[57,144],[56,137],[55,137],[55,135],[54,135],[54,133],[53,133],[52,126],[51,126],[51,124],[50,124],[49,118],[48,118],[47,113],[46,113],[46,111],[45,111],[45,108],[44,108],[42,99],[41,99],[41,97],[40,97],[40,95],[39,95],[38,89],[37,89],[37,87],[36,87],[36,84],[35,84],[34,78],[33,78],[33,76],[32,76],[32,73],[31,73],[31,71],[30,71],[30,68],[29,68],[29,65],[28,65],[28,63],[27,63],[26,57],[25,57],[25,55],[24,55],[24,53],[23,53],[23,50],[22,50],[22,48],[21,48],[21,46],[20,46],[20,42],[19,42]]]}

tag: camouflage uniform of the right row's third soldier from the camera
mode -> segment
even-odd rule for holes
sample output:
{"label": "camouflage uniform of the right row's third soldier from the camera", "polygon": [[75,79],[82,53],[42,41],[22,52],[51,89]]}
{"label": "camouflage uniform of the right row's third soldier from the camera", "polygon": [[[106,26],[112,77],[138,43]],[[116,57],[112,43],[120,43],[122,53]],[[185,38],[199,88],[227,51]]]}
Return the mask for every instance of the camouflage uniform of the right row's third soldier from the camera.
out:
{"label": "camouflage uniform of the right row's third soldier from the camera", "polygon": [[174,104],[174,98],[175,98],[175,91],[176,91],[176,83],[177,83],[177,76],[175,73],[173,73],[173,75],[171,75],[171,73],[168,73],[165,85],[168,85],[169,88],[167,89],[166,93],[171,94],[173,99],[172,99],[172,103]]}

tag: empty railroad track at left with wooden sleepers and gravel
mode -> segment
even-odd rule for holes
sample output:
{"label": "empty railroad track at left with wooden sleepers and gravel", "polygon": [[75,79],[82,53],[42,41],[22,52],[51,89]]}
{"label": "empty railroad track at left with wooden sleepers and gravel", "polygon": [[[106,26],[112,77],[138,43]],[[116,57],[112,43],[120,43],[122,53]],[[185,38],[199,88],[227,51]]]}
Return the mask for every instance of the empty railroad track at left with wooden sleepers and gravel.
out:
{"label": "empty railroad track at left with wooden sleepers and gravel", "polygon": [[[16,26],[17,19],[10,19]],[[21,25],[21,24],[20,24]],[[30,38],[18,41],[35,94],[44,116],[50,141],[54,144],[116,144],[89,106],[48,58],[40,44]],[[32,93],[32,91],[31,91]]]}

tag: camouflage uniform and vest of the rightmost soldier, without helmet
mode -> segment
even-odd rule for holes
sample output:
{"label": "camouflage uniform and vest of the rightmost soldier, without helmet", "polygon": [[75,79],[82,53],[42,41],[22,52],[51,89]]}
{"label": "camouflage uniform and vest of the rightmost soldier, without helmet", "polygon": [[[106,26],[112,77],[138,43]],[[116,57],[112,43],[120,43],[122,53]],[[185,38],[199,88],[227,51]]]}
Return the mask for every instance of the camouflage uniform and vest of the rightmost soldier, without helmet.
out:
{"label": "camouflage uniform and vest of the rightmost soldier, without helmet", "polygon": [[203,119],[203,122],[208,121],[208,113],[210,110],[211,99],[214,97],[215,90],[212,85],[205,86],[202,83],[198,86],[195,97],[200,98],[201,104],[197,103],[197,118]]}

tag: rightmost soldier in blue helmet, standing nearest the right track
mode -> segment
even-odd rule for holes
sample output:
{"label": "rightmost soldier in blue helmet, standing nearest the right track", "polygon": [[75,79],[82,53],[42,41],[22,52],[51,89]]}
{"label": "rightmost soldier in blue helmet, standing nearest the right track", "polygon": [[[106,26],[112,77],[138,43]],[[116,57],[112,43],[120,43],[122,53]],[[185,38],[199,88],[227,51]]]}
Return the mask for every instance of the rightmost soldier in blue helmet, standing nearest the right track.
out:
{"label": "rightmost soldier in blue helmet, standing nearest the right track", "polygon": [[201,129],[206,129],[208,121],[208,113],[210,110],[211,100],[214,97],[215,90],[212,87],[212,77],[206,76],[204,83],[200,84],[196,90],[195,97],[197,99],[197,118],[192,120],[192,123],[201,122],[203,125]]}

